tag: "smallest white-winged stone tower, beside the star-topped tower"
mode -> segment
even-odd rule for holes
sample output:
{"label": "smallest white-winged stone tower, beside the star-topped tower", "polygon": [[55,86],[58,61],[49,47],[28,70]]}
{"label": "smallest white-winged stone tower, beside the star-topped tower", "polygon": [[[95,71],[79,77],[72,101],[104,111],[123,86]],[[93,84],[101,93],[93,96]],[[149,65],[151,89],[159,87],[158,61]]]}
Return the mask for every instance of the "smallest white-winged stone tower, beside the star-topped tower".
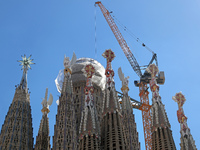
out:
{"label": "smallest white-winged stone tower, beside the star-topped tower", "polygon": [[48,88],[46,89],[45,98],[42,101],[43,109],[41,110],[43,115],[40,122],[40,128],[38,136],[36,137],[35,150],[50,150],[50,137],[49,137],[49,106],[52,104],[53,96],[50,94],[47,101]]}

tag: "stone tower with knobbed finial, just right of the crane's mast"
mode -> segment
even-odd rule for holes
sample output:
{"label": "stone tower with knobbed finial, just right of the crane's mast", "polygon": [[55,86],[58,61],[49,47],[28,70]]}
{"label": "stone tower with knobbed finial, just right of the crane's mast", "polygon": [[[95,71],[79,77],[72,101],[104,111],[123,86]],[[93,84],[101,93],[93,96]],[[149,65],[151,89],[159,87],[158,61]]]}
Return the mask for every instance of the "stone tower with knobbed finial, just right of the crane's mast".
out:
{"label": "stone tower with knobbed finial, just right of the crane's mast", "polygon": [[151,64],[147,71],[151,74],[149,84],[152,91],[152,149],[176,150],[170,129],[171,125],[159,95],[159,86],[156,81],[156,75],[159,72],[158,67]]}

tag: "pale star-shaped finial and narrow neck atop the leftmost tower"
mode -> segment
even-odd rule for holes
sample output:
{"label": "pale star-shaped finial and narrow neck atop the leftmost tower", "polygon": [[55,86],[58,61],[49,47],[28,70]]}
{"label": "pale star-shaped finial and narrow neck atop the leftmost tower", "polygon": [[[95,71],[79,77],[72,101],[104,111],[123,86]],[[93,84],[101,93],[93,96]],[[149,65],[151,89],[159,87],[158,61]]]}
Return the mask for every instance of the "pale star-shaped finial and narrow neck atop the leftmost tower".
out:
{"label": "pale star-shaped finial and narrow neck atop the leftmost tower", "polygon": [[22,66],[22,70],[23,70],[23,75],[22,75],[22,79],[21,79],[21,82],[20,82],[20,87],[22,89],[24,89],[26,92],[28,92],[28,85],[27,85],[27,72],[28,72],[28,69],[30,68],[31,69],[31,66],[32,64],[35,64],[33,63],[33,59],[31,59],[31,55],[27,58],[26,55],[21,56],[22,57],[22,60],[18,60],[18,62],[20,62],[21,66]]}

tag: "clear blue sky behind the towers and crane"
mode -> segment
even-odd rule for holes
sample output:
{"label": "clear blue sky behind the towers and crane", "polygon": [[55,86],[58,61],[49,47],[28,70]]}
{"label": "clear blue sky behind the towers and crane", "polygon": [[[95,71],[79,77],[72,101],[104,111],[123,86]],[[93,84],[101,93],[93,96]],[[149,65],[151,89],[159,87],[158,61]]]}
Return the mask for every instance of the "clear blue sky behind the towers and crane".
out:
{"label": "clear blue sky behind the towers and crane", "polygon": [[[139,100],[139,89],[134,86],[134,80],[139,77],[132,70],[100,9],[95,8],[94,3],[94,0],[0,0],[0,126],[12,102],[15,85],[21,80],[22,71],[17,60],[21,60],[21,55],[24,54],[32,54],[36,63],[28,72],[34,138],[42,116],[41,98],[45,96],[46,87],[54,97],[49,113],[50,136],[53,135],[56,100],[59,96],[54,80],[59,70],[63,69],[65,54],[71,58],[75,52],[77,58],[93,58],[106,66],[102,53],[111,48],[116,55],[112,63],[116,72],[116,89],[121,88],[117,75],[117,69],[121,66],[125,76],[130,76],[130,96]],[[177,149],[180,149],[180,125],[176,116],[178,105],[172,100],[172,96],[180,91],[186,97],[183,108],[188,117],[188,126],[197,148],[200,148],[200,121],[197,117],[200,105],[200,2],[103,0],[102,3],[136,37],[157,53],[159,69],[165,72],[166,78],[165,84],[160,86],[160,95]],[[148,64],[152,54],[122,28],[119,29],[138,63]],[[144,150],[141,112],[134,110],[134,114],[141,149]]]}

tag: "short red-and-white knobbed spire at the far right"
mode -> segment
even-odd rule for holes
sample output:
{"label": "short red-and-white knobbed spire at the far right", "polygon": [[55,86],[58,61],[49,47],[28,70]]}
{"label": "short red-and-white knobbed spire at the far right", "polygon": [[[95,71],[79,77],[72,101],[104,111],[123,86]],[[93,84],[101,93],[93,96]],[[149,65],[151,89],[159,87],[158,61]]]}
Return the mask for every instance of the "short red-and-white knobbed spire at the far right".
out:
{"label": "short red-and-white knobbed spire at the far right", "polygon": [[187,117],[185,116],[183,111],[183,104],[186,101],[185,96],[181,92],[179,92],[176,93],[176,95],[173,96],[172,99],[178,103],[179,108],[177,111],[177,117],[178,122],[181,126],[181,150],[197,150],[193,137],[190,133],[190,129],[187,125]]}

